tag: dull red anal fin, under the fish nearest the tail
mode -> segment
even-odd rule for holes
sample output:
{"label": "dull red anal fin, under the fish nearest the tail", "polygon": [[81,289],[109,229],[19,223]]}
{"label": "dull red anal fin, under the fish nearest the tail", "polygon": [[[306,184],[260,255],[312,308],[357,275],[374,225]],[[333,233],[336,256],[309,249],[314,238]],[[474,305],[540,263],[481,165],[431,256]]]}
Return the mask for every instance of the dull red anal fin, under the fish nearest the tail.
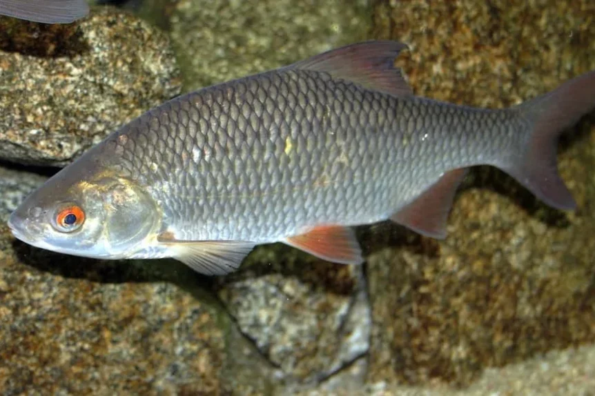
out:
{"label": "dull red anal fin, under the fish nearest the tail", "polygon": [[454,196],[465,175],[466,168],[446,172],[415,201],[396,212],[391,220],[427,237],[444,239]]}

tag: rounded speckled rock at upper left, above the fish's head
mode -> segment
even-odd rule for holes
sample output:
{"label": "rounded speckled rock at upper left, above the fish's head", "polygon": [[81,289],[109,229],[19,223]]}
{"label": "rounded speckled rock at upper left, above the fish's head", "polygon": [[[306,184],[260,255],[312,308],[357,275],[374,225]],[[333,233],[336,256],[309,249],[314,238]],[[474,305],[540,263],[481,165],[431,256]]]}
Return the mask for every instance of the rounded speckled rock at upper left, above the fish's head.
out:
{"label": "rounded speckled rock at upper left, above the fish's head", "polygon": [[64,166],[179,94],[170,41],[113,8],[71,25],[0,17],[0,159]]}

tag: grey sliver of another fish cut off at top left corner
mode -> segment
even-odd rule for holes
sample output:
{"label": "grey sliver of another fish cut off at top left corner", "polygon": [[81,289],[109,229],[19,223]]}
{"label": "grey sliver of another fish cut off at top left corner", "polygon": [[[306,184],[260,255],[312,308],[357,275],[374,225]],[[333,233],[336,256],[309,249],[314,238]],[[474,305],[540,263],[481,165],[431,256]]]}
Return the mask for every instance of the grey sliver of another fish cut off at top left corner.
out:
{"label": "grey sliver of another fish cut off at top left corner", "polygon": [[0,15],[39,23],[72,23],[88,13],[86,0],[0,0]]}

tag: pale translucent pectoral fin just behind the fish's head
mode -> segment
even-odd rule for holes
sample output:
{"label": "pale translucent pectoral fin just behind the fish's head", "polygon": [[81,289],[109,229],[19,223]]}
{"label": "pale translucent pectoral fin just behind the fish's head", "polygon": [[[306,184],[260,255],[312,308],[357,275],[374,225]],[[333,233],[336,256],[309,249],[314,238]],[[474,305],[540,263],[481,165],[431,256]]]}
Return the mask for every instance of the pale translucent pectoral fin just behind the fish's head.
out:
{"label": "pale translucent pectoral fin just behind the fish's head", "polygon": [[179,241],[157,238],[167,244],[173,258],[204,275],[225,275],[240,268],[255,244],[244,241]]}

